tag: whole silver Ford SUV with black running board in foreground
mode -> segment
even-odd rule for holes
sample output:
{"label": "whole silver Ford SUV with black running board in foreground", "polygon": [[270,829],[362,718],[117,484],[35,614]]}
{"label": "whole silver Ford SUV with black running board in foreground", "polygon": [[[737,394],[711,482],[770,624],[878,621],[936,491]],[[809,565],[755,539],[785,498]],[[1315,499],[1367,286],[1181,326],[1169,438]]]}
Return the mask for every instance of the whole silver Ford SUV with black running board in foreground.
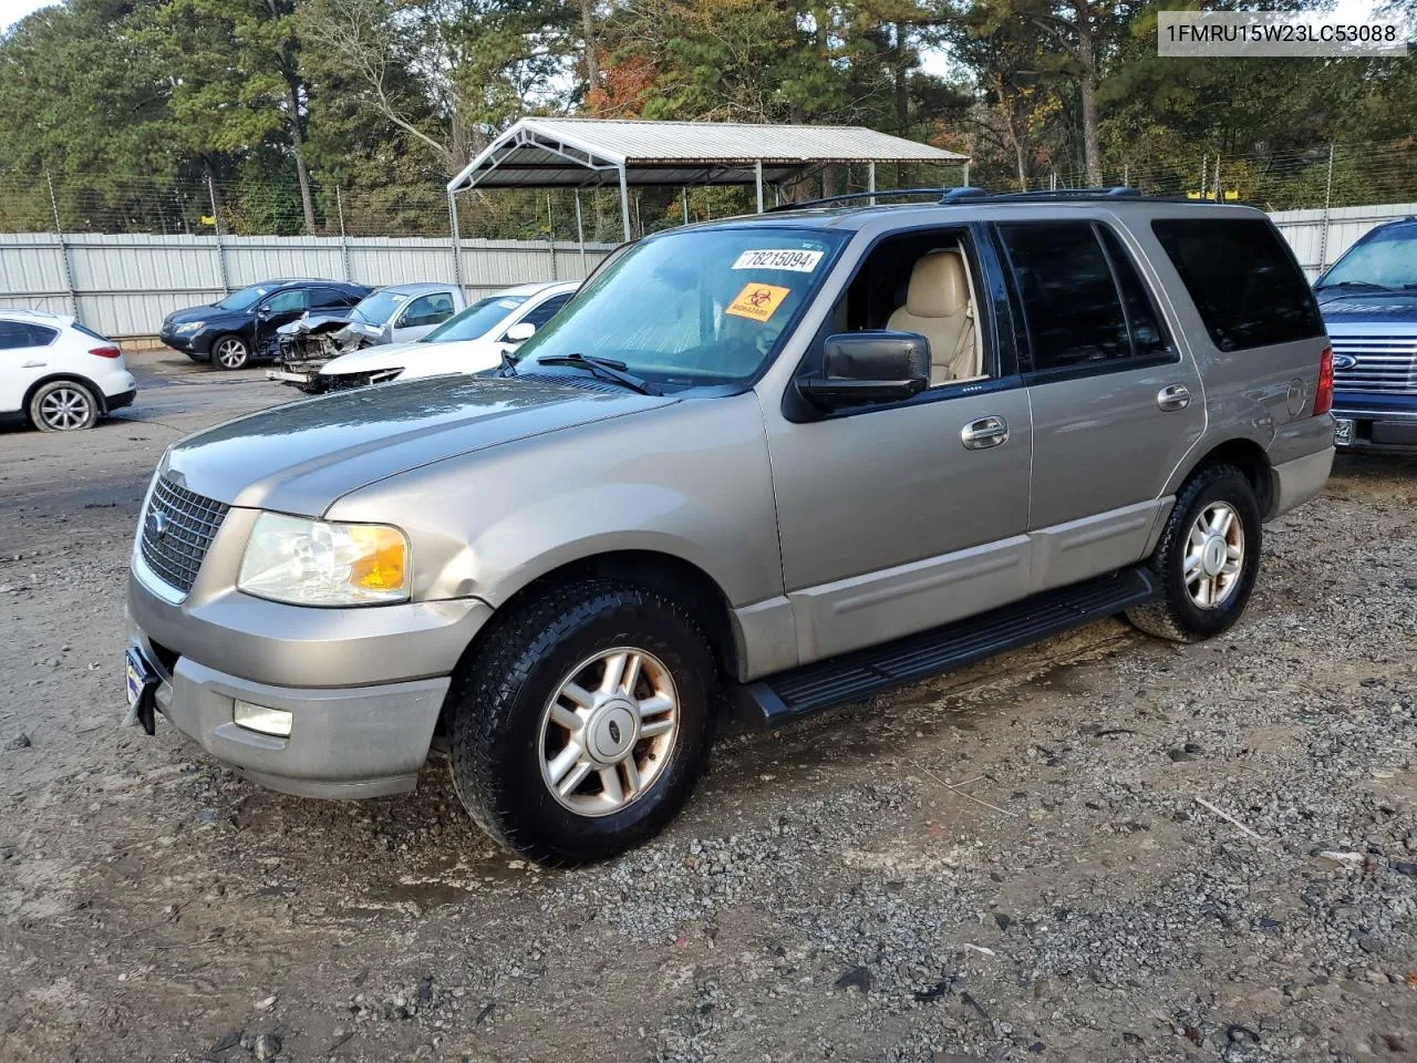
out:
{"label": "whole silver Ford SUV with black running board in foreground", "polygon": [[616,254],[489,377],[184,439],[129,584],[132,716],[361,798],[446,734],[547,863],[643,842],[714,724],[1110,614],[1195,641],[1332,462],[1280,234],[1119,191],[819,203]]}

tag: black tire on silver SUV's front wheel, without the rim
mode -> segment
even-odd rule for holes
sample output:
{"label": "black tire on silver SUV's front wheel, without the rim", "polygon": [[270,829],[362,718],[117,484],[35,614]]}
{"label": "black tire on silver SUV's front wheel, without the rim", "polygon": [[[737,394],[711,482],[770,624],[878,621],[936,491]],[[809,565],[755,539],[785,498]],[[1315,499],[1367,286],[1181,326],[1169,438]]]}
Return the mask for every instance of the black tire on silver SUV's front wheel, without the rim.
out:
{"label": "black tire on silver SUV's front wheel, without the rim", "polygon": [[[492,624],[449,693],[452,778],[472,818],[507,849],[558,867],[615,856],[659,833],[693,791],[713,737],[718,670],[697,621],[659,591],[592,578],[550,587]],[[581,815],[543,778],[541,720],[580,662],[619,646],[655,655],[667,669],[677,730],[638,798]],[[587,784],[598,785],[589,777]]]}

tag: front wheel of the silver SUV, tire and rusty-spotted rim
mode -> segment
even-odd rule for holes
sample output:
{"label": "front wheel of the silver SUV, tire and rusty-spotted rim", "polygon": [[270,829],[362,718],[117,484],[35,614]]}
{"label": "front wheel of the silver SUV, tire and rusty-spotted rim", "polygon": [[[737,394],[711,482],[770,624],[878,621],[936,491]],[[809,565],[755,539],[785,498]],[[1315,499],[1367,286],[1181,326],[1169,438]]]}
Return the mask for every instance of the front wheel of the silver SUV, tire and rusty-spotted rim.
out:
{"label": "front wheel of the silver SUV, tire and rusty-spotted rim", "polygon": [[582,580],[512,605],[449,700],[458,797],[547,865],[655,836],[703,770],[718,675],[696,619],[659,591]]}

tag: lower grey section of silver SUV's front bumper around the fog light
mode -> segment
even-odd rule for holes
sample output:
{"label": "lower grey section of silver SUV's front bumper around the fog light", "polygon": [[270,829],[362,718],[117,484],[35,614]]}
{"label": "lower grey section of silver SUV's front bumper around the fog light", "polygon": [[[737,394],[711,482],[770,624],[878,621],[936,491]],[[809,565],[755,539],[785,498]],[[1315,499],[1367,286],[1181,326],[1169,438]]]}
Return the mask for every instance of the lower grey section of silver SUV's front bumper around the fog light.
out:
{"label": "lower grey section of silver SUV's front bumper around the fog light", "polygon": [[[133,639],[149,663],[154,653]],[[401,794],[418,782],[449,680],[419,679],[357,689],[299,689],[255,683],[179,658],[162,680],[157,710],[213,757],[252,782],[315,798]],[[247,730],[237,700],[290,713],[289,737]]]}

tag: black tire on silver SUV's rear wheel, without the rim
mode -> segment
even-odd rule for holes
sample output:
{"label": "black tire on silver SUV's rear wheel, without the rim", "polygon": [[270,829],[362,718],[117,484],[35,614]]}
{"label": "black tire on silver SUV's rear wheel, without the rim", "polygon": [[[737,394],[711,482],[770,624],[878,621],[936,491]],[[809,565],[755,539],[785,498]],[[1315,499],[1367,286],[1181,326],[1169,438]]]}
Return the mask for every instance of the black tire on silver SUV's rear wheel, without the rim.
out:
{"label": "black tire on silver SUV's rear wheel, without the rim", "polygon": [[[1200,605],[1187,587],[1185,566],[1190,532],[1203,512],[1217,503],[1229,506],[1243,533],[1240,568],[1219,605]],[[1148,635],[1175,642],[1200,642],[1229,629],[1254,591],[1264,546],[1264,522],[1254,488],[1233,465],[1209,465],[1186,480],[1166,519],[1156,551],[1146,566],[1161,594],[1145,605],[1127,611],[1127,619]]]}

